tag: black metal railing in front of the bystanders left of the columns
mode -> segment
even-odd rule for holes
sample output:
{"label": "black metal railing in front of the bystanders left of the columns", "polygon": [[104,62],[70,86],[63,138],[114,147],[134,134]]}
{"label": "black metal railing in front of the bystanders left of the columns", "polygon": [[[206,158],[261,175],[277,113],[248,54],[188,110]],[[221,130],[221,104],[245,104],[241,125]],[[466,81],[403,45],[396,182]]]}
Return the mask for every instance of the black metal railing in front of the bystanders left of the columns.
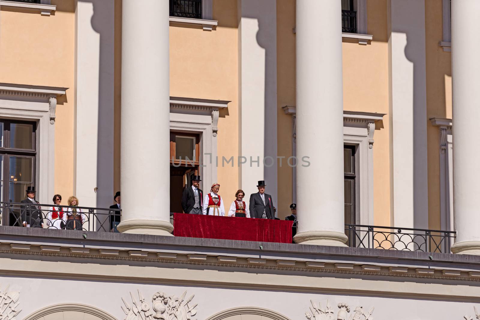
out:
{"label": "black metal railing in front of the bystanders left of the columns", "polygon": [[0,202],[2,225],[13,227],[117,232],[121,210]]}

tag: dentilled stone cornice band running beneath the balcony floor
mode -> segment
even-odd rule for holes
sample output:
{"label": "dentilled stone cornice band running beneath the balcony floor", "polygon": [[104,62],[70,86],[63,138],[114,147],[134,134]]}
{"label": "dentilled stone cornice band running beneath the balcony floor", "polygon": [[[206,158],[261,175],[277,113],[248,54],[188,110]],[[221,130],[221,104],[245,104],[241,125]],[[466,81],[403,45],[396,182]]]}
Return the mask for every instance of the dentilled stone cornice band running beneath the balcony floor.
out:
{"label": "dentilled stone cornice band running beneath the balcony floor", "polygon": [[[253,268],[282,270],[293,272],[321,272],[331,274],[359,274],[375,276],[395,276],[407,278],[429,278],[459,281],[480,281],[480,272],[470,270],[453,270],[443,268],[419,268],[417,266],[396,266],[395,264],[365,264],[308,261],[308,259],[268,259],[248,257],[248,255],[214,255],[195,253],[162,252],[157,250],[111,250],[88,247],[66,247],[34,245],[25,243],[1,243],[0,253],[9,255],[53,256],[77,259],[100,259],[137,262],[159,262],[174,264],[192,264],[212,267]],[[83,263],[79,261],[79,263]],[[1,270],[0,273],[8,273]],[[16,273],[19,271],[16,270]],[[56,274],[62,274],[56,271]],[[69,274],[68,270],[65,274]]]}

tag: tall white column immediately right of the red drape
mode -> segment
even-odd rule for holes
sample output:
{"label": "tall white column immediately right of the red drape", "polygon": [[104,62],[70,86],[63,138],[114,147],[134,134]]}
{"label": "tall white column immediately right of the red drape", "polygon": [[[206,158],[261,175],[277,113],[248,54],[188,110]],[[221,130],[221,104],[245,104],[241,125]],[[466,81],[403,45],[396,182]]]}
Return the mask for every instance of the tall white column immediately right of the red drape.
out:
{"label": "tall white column immediately right of the red drape", "polygon": [[341,33],[340,1],[297,0],[297,243],[347,241]]}

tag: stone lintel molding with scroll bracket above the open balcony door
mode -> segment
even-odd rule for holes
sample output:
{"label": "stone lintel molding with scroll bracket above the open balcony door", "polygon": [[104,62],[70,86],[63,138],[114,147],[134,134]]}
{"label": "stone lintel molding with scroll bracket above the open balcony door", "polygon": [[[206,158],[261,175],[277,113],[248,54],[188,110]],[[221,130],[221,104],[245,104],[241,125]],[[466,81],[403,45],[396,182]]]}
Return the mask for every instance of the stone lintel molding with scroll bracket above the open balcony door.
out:
{"label": "stone lintel molding with scroll bracket above the open balcony door", "polygon": [[218,132],[218,118],[220,116],[219,110],[227,108],[229,102],[230,101],[224,100],[170,97],[170,110],[191,110],[210,113],[212,117],[212,136],[216,137]]}

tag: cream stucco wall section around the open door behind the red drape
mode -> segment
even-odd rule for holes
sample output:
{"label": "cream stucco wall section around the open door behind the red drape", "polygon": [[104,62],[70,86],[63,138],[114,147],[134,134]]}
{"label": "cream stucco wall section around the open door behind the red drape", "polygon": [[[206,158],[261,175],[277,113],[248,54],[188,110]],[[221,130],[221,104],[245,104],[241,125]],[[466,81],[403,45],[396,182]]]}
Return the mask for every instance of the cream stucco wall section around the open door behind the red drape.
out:
{"label": "cream stucco wall section around the open door behind the red drape", "polygon": [[[227,110],[220,111],[217,135],[217,182],[229,204],[239,188],[237,162],[233,168],[222,167],[222,156],[237,158],[239,151],[237,1],[213,1],[213,19],[218,26],[211,32],[170,26],[170,95],[231,101]],[[210,191],[210,185],[203,189]]]}

